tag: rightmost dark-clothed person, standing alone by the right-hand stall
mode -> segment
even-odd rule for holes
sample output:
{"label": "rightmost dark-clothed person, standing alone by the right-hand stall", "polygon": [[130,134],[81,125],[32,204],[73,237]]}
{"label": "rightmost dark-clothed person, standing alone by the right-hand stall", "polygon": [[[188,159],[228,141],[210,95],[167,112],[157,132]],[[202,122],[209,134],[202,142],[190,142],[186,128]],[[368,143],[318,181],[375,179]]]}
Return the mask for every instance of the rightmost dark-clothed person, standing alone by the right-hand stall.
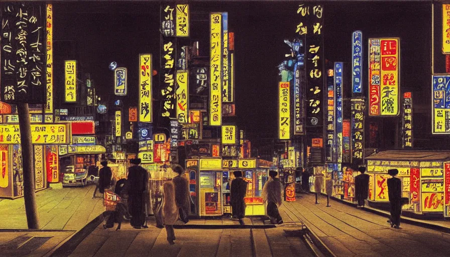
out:
{"label": "rightmost dark-clothed person, standing alone by the right-hand stall", "polygon": [[391,169],[388,170],[388,174],[392,176],[392,178],[388,179],[388,195],[389,202],[391,205],[391,227],[400,228],[400,215],[402,213],[402,182],[399,178],[397,178],[398,170]]}

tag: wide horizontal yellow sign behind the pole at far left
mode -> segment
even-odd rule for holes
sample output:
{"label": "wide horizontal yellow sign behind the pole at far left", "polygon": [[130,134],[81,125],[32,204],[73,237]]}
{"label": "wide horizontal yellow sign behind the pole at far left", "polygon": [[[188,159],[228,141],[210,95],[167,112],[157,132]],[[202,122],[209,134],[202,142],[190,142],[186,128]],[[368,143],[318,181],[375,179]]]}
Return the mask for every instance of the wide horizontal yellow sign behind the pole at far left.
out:
{"label": "wide horizontal yellow sign behind the pole at far left", "polygon": [[[68,124],[31,124],[33,144],[67,145],[70,143]],[[19,124],[0,124],[0,144],[20,144]]]}

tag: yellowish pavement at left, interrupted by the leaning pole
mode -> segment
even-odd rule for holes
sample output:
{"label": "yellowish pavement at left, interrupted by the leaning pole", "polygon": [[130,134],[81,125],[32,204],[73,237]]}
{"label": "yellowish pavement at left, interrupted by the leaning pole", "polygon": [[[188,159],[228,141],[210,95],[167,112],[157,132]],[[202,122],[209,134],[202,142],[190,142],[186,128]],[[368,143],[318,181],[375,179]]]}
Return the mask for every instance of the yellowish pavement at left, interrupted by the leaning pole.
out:
{"label": "yellowish pavement at left, interrupted by the leaning pole", "polygon": [[[36,193],[41,229],[79,230],[104,211],[102,198],[92,199],[94,185],[51,188]],[[97,192],[97,196],[101,196]],[[26,229],[24,198],[0,201],[0,229]]]}

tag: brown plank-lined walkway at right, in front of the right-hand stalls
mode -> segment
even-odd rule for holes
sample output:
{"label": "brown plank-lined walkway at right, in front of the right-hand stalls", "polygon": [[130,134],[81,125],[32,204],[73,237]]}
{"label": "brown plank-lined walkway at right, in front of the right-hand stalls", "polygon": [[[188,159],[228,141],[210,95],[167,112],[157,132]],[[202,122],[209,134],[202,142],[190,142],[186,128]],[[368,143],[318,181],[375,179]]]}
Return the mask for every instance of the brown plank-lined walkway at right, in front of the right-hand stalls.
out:
{"label": "brown plank-lined walkway at right, in front of the right-hand stalls", "polygon": [[405,223],[394,229],[384,216],[336,201],[326,207],[323,196],[319,202],[313,194],[297,195],[284,202],[284,214],[302,220],[336,256],[448,256],[448,233]]}

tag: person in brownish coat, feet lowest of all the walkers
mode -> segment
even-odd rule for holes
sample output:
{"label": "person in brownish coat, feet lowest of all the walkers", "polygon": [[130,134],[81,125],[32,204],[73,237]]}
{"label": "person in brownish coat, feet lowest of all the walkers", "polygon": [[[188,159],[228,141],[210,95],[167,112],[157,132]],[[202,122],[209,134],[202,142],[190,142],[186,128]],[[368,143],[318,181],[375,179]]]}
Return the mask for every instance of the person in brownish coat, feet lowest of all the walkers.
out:
{"label": "person in brownish coat, feet lowest of all the walkers", "polygon": [[175,201],[175,186],[171,181],[167,181],[163,184],[163,204],[162,204],[162,216],[164,226],[167,232],[167,241],[169,244],[174,244],[175,231],[173,225],[178,220],[178,208]]}

